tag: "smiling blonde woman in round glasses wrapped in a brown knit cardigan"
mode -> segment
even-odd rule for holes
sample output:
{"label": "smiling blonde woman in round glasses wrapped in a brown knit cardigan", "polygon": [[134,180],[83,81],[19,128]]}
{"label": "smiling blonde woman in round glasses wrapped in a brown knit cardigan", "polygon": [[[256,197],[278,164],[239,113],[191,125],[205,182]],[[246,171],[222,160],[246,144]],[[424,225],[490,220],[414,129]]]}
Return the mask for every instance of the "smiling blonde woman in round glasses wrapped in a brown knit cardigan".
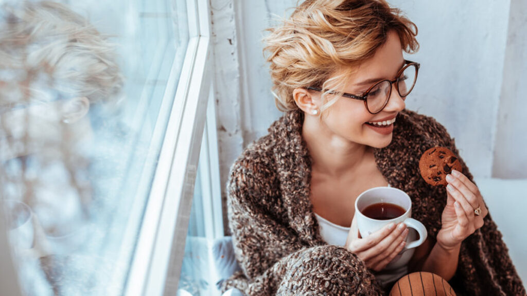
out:
{"label": "smiling blonde woman in round glasses wrapped in a brown knit cardigan", "polygon": [[[230,229],[243,272],[226,288],[380,295],[404,274],[428,271],[457,294],[525,295],[464,162],[447,188],[419,174],[430,147],[458,153],[441,124],[405,109],[419,65],[403,50],[418,48],[415,25],[384,0],[308,0],[270,31],[265,49],[286,114],[231,167]],[[408,193],[428,230],[404,270],[385,267],[403,250],[406,225],[359,238],[352,224],[357,196],[376,186]],[[331,244],[322,223],[352,227]]]}

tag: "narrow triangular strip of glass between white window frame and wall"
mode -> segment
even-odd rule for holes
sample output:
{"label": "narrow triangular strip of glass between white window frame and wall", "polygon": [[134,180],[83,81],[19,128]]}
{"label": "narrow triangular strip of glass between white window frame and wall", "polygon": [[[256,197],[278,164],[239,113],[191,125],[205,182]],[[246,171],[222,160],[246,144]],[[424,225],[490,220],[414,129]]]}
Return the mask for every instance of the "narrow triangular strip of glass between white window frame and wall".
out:
{"label": "narrow triangular strip of glass between white window frame and wall", "polygon": [[[208,108],[212,108],[214,100],[212,97],[209,100]],[[216,125],[211,121],[216,121],[216,117],[213,110],[208,110],[179,278],[178,295],[181,296],[221,295],[218,284],[222,274],[219,270],[226,269],[220,265],[227,259],[214,251],[224,240],[222,229],[221,233],[215,231],[217,223],[222,224],[223,220],[221,209],[213,205],[214,201],[221,200],[221,196],[213,186],[217,182],[214,180],[214,171],[219,170],[219,167],[214,156],[214,146],[209,147],[209,143],[216,139],[216,134],[211,134],[216,132]]]}

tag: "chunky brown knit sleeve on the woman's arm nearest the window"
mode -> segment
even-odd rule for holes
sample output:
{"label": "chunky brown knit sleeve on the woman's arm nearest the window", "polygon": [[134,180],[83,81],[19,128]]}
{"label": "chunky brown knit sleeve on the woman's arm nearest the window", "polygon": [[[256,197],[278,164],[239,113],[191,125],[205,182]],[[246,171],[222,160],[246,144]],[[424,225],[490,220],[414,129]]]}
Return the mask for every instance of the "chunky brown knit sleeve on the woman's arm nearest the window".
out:
{"label": "chunky brown knit sleeve on the woman's arm nearest the window", "polygon": [[344,248],[307,246],[280,218],[273,172],[239,160],[228,183],[228,215],[242,272],[223,284],[253,295],[382,295],[364,262]]}

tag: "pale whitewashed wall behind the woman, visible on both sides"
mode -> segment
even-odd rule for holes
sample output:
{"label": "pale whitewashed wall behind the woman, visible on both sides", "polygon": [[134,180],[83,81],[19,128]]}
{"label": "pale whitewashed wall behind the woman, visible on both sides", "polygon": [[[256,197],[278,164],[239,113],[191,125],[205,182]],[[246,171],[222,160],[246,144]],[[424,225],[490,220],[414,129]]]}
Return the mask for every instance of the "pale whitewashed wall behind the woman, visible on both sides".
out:
{"label": "pale whitewashed wall behind the woman, visible on both sides", "polygon": [[[391,0],[417,25],[421,63],[407,108],[434,116],[479,177],[525,178],[527,4],[524,0]],[[222,184],[243,147],[281,113],[261,37],[296,0],[211,0]],[[512,9],[511,9],[512,7]],[[522,79],[523,77],[523,79]],[[223,191],[225,198],[225,190]]]}

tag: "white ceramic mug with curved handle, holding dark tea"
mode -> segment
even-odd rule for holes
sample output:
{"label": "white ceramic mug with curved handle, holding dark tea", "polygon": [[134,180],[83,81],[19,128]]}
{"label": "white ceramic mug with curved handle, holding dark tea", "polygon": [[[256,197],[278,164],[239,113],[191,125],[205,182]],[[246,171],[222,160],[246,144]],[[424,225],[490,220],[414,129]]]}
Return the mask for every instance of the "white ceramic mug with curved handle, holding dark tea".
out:
{"label": "white ceramic mug with curved handle, holding dark tea", "polygon": [[[401,206],[405,210],[404,214],[389,220],[376,220],[367,217],[362,213],[369,205],[376,203],[392,203]],[[375,231],[383,228],[389,223],[400,223],[404,222],[408,228],[413,228],[419,234],[419,239],[411,240],[411,236],[408,235],[407,243],[404,250],[416,248],[421,245],[427,237],[426,228],[423,223],[410,218],[412,216],[412,200],[406,194],[406,192],[393,187],[376,187],[368,189],[361,193],[355,201],[355,216],[357,218],[357,226],[360,235],[365,238],[366,236],[374,233]],[[409,240],[409,241],[408,241]]]}

